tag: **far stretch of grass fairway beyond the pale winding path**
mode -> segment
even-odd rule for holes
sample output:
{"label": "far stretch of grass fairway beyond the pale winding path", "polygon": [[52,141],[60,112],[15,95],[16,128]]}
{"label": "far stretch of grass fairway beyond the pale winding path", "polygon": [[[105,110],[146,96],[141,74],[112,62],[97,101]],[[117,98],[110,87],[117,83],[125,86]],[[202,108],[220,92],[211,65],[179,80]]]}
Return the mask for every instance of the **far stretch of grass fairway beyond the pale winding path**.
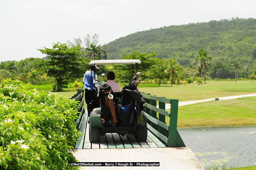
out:
{"label": "far stretch of grass fairway beyond the pale winding path", "polygon": [[206,83],[197,85],[194,82],[186,86],[185,84],[173,84],[174,87],[164,84],[161,87],[138,87],[138,89],[159,97],[179,99],[179,102],[256,93],[256,81],[244,80],[236,83],[234,81],[206,81]]}

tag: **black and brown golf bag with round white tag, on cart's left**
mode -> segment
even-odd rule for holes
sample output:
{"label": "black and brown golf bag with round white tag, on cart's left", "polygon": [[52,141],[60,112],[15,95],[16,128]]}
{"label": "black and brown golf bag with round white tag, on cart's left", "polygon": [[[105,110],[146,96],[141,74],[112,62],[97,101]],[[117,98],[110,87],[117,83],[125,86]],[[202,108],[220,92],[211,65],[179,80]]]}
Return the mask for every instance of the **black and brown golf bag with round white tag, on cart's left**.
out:
{"label": "black and brown golf bag with round white tag, on cart's left", "polygon": [[117,115],[115,105],[114,92],[111,90],[110,85],[105,85],[99,89],[99,101],[101,106],[100,117],[105,127],[117,125]]}

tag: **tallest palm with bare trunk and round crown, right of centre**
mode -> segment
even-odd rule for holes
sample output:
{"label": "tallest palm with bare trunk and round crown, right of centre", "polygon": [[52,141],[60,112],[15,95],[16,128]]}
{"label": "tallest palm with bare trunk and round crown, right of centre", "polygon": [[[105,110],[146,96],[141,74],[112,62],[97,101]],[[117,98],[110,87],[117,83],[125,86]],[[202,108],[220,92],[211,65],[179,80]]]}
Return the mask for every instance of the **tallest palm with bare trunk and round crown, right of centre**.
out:
{"label": "tallest palm with bare trunk and round crown, right of centre", "polygon": [[198,53],[199,54],[195,57],[196,62],[194,64],[198,64],[198,66],[201,68],[201,84],[203,84],[203,68],[206,68],[206,65],[211,65],[210,61],[212,59],[211,57],[207,56],[207,51],[204,51],[203,49],[199,49]]}

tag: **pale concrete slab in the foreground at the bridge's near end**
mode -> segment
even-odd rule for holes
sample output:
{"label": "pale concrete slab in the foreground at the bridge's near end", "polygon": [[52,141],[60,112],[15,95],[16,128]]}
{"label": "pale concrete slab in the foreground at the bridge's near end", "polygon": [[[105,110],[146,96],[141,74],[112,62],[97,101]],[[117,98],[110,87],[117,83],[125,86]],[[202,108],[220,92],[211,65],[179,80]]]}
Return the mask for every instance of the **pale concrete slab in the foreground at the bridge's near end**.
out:
{"label": "pale concrete slab in the foreground at the bridge's near end", "polygon": [[80,162],[160,162],[160,166],[81,166],[84,170],[203,170],[189,147],[132,149],[75,149]]}

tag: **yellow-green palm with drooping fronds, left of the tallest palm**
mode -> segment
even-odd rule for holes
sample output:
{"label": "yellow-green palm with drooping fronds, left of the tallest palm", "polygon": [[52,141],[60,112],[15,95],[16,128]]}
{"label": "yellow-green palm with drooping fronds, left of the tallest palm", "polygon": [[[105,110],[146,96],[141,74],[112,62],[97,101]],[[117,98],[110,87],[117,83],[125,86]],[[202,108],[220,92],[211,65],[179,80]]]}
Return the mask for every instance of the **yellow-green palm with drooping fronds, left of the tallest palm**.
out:
{"label": "yellow-green palm with drooping fronds, left of the tallest palm", "polygon": [[165,70],[166,74],[169,76],[169,80],[171,81],[173,87],[173,81],[177,80],[180,82],[179,73],[183,71],[182,68],[176,63],[175,60],[171,59],[169,62],[169,68]]}

